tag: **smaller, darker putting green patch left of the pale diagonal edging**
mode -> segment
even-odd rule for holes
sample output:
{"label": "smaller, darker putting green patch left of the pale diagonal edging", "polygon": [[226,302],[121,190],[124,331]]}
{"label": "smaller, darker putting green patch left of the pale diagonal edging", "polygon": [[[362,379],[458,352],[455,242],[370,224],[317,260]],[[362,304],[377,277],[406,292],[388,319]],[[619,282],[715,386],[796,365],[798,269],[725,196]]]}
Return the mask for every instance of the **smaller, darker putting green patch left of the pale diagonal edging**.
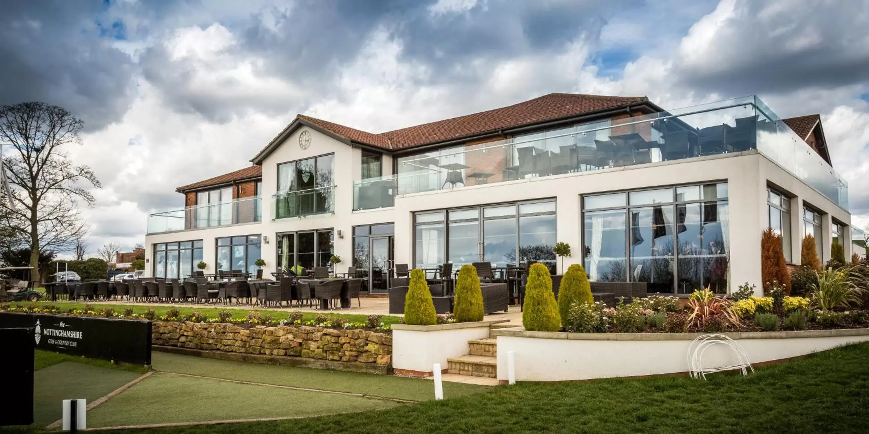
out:
{"label": "smaller, darker putting green patch left of the pale diagonal edging", "polygon": [[76,362],[61,362],[33,373],[34,426],[63,416],[63,399],[85,398],[88,404],[126,385],[141,374]]}

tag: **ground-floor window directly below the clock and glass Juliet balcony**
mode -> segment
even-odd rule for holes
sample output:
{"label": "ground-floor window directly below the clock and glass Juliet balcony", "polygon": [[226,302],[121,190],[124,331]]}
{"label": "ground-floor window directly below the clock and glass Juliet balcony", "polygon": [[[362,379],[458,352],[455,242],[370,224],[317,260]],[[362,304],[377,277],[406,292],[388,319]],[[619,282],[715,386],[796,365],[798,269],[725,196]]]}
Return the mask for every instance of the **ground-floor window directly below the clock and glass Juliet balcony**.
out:
{"label": "ground-floor window directly below the clock and glass Juliet balcony", "polygon": [[332,229],[277,234],[278,268],[301,273],[302,269],[329,266],[332,257]]}

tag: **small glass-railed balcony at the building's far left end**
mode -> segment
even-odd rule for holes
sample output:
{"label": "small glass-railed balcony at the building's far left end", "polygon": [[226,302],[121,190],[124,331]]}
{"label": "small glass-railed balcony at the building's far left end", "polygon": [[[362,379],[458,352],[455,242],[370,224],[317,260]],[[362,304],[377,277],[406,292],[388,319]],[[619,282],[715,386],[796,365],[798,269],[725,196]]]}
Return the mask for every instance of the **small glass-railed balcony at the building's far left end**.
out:
{"label": "small glass-railed balcony at the building's far left end", "polygon": [[149,214],[148,234],[238,225],[260,220],[262,198],[255,196]]}

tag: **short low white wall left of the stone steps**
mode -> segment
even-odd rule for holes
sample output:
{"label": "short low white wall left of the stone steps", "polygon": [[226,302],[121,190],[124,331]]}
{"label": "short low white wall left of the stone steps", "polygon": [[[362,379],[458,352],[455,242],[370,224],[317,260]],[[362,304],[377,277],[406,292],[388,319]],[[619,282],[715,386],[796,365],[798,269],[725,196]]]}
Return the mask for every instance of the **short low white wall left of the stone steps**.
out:
{"label": "short low white wall left of the stone steps", "polygon": [[468,354],[468,340],[486,339],[489,327],[499,321],[454,323],[442,325],[392,325],[393,369],[432,375],[432,366],[447,369],[447,358]]}

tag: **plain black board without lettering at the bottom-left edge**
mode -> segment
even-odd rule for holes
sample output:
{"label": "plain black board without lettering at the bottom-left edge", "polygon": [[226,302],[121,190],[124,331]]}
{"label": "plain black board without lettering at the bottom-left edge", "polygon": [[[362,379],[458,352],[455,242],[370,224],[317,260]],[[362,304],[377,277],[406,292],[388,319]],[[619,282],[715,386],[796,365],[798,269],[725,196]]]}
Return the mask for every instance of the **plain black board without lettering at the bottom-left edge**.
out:
{"label": "plain black board without lettering at the bottom-left edge", "polygon": [[0,405],[0,425],[29,425],[33,423],[33,329],[0,328],[3,356],[5,403]]}

